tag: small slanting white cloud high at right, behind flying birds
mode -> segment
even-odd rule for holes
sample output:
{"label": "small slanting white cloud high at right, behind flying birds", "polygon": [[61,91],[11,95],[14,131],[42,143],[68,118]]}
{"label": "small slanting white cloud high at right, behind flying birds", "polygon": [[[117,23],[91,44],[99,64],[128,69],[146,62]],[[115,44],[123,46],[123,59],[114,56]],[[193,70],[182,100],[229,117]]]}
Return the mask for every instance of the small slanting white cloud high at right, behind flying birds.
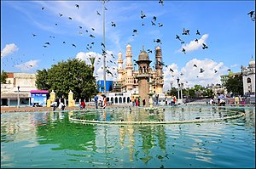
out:
{"label": "small slanting white cloud high at right, behind flying birds", "polygon": [[193,41],[190,41],[187,44],[183,44],[183,46],[179,48],[177,52],[181,53],[183,48],[186,50],[186,53],[198,50],[199,48],[202,47],[202,43],[205,43],[207,45],[208,36],[209,36],[208,34],[205,34],[201,37],[201,39],[198,39],[198,42],[195,42],[195,39],[194,39]]}

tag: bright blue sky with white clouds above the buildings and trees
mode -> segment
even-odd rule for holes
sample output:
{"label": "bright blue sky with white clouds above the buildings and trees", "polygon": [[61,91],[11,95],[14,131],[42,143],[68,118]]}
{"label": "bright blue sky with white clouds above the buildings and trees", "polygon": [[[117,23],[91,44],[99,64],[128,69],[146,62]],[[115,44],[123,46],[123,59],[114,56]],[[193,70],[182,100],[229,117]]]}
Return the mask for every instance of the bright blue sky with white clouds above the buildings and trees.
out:
{"label": "bright blue sky with white clouds above the buildings and trees", "polygon": [[[75,4],[79,4],[79,8]],[[123,54],[125,67],[128,43],[132,59],[138,58],[143,46],[145,50],[154,51],[160,45],[166,65],[164,89],[171,87],[170,82],[175,87],[177,76],[185,87],[220,83],[220,75],[228,74],[228,69],[241,71],[241,65],[247,66],[252,56],[255,59],[255,21],[247,14],[255,10],[254,1],[165,0],[161,5],[158,0],[110,0],[105,6],[108,8],[105,10],[107,66],[113,75],[119,52]],[[102,55],[101,1],[1,1],[1,10],[1,70],[35,73],[73,58],[83,59],[90,65],[88,57],[96,56],[95,75],[103,79],[103,64],[99,59]],[[143,19],[141,11],[146,15]],[[154,16],[156,25],[151,25]],[[159,27],[159,23],[163,26]],[[182,35],[183,28],[189,30],[189,35]],[[133,29],[137,30],[134,36]],[[196,35],[197,30],[201,35]],[[95,38],[89,37],[90,34]],[[184,43],[177,40],[176,35]],[[199,41],[195,42],[195,38]],[[154,42],[155,39],[160,39],[162,44]],[[202,43],[208,48],[202,49]],[[150,65],[153,67],[154,52],[149,53],[149,58],[153,60]],[[200,73],[200,68],[205,71]],[[108,75],[107,80],[116,80],[116,77]]]}

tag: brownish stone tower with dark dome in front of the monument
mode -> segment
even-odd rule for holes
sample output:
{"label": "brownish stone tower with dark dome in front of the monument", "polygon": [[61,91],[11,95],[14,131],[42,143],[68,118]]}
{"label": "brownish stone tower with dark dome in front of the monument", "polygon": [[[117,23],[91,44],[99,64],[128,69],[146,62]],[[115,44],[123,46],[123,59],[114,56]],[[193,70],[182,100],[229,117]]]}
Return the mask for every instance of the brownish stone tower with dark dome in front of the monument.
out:
{"label": "brownish stone tower with dark dome in front of the monument", "polygon": [[143,50],[141,54],[138,56],[138,60],[136,61],[138,65],[139,74],[137,75],[138,80],[138,91],[141,97],[141,105],[143,105],[143,99],[145,99],[145,104],[148,105],[148,93],[149,93],[149,76],[150,76],[150,63],[151,60],[148,58],[148,53]]}

